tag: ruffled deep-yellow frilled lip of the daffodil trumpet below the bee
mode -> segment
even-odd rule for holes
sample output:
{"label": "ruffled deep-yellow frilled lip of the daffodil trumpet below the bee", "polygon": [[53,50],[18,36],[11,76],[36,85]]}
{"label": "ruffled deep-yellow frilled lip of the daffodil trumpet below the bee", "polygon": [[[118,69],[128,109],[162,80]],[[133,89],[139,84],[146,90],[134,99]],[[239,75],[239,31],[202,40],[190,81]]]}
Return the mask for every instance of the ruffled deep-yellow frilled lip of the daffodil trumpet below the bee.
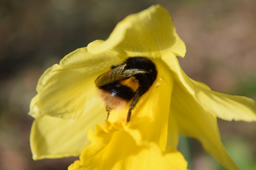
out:
{"label": "ruffled deep-yellow frilled lip of the daffodil trumpet below the bee", "polygon": [[154,142],[140,141],[138,130],[125,126],[105,123],[105,127],[97,125],[96,133],[90,130],[88,138],[92,143],[68,170],[187,170],[177,150],[163,153]]}

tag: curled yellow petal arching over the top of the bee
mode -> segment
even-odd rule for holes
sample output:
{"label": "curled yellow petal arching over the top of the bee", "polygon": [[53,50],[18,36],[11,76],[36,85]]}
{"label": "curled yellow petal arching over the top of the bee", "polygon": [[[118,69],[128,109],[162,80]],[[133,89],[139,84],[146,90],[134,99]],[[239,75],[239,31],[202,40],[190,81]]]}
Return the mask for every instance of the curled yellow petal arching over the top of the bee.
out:
{"label": "curled yellow petal arching over the top of the bee", "polygon": [[186,53],[168,11],[160,5],[129,15],[116,25],[106,41],[97,40],[88,45],[88,51],[93,54],[108,49],[144,57],[161,57],[166,51],[181,57]]}

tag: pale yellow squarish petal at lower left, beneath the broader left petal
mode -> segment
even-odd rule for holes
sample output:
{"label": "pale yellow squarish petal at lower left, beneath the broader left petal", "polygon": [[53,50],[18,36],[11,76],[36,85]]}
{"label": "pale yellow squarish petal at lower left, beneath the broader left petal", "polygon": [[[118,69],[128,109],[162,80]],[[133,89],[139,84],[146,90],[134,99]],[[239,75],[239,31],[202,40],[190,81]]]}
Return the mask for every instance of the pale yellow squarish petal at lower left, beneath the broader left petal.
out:
{"label": "pale yellow squarish petal at lower left, beneath the broader left petal", "polygon": [[87,130],[106,119],[105,107],[97,97],[90,101],[93,105],[87,105],[80,119],[43,116],[34,120],[30,134],[34,160],[80,155],[81,150],[90,144],[86,138]]}

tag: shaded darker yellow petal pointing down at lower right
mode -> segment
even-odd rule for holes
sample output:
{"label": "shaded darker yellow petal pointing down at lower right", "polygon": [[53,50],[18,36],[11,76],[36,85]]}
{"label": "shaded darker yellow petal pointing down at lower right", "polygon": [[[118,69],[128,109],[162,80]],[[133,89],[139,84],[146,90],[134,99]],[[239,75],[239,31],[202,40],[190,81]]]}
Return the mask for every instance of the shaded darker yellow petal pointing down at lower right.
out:
{"label": "shaded darker yellow petal pointing down at lower right", "polygon": [[193,99],[185,94],[182,87],[174,85],[171,103],[171,114],[174,114],[179,132],[198,139],[212,156],[229,170],[239,170],[228,155],[218,131],[217,118],[209,114]]}

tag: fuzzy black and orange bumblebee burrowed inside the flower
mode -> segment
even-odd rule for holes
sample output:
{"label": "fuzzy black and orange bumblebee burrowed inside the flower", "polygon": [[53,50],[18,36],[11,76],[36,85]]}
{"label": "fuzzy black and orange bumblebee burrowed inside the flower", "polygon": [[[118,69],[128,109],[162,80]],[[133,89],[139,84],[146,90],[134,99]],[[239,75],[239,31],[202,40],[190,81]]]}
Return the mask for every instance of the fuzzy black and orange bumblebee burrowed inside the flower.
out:
{"label": "fuzzy black and orange bumblebee burrowed inside the flower", "polygon": [[128,57],[122,64],[111,66],[94,83],[105,102],[108,116],[111,110],[123,109],[131,102],[126,119],[129,122],[131,111],[156,78],[157,68],[154,62],[145,57]]}

